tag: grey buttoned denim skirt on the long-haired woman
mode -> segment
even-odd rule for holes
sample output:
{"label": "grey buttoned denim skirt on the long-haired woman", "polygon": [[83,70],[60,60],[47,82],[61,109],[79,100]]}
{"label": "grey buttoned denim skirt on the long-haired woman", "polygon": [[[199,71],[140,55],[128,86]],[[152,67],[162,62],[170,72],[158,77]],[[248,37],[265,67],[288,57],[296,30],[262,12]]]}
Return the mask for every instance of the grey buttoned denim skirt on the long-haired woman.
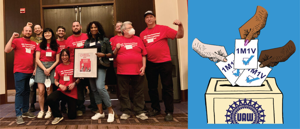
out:
{"label": "grey buttoned denim skirt on the long-haired woman", "polygon": [[[42,62],[42,61],[41,61]],[[51,67],[54,62],[42,62],[45,68]],[[54,73],[55,73],[55,67],[50,71],[50,80],[51,83],[54,83]],[[47,77],[48,79],[48,77]],[[42,70],[39,66],[37,67],[37,71],[35,72],[35,82],[37,83],[45,83],[46,75],[44,73],[44,70]]]}

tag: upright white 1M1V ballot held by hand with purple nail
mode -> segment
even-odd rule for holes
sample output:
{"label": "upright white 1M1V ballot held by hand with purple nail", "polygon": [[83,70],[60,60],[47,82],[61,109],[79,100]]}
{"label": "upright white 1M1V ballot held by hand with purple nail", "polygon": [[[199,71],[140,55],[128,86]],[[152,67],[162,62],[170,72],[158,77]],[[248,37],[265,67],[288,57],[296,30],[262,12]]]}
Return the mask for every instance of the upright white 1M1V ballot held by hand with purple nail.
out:
{"label": "upright white 1M1V ballot held by hand with purple nail", "polygon": [[244,39],[235,39],[234,69],[257,69],[257,42],[252,39],[244,46]]}

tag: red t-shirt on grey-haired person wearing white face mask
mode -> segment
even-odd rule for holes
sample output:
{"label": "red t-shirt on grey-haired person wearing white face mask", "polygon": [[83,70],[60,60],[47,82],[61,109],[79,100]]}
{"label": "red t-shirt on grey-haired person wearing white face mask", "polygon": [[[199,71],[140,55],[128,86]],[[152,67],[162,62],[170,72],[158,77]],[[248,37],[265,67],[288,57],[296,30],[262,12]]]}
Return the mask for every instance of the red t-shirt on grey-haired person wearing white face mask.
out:
{"label": "red t-shirt on grey-haired person wearing white face mask", "polygon": [[117,74],[138,75],[143,66],[142,56],[147,55],[143,41],[138,36],[125,38],[124,36],[116,38],[113,50],[116,44],[121,47],[117,55]]}

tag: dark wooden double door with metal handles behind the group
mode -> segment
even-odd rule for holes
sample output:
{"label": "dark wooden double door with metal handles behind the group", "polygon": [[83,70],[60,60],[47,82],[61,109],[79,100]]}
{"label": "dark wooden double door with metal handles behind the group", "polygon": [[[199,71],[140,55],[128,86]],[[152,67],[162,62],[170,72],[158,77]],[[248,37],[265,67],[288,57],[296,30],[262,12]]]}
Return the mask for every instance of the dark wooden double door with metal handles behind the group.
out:
{"label": "dark wooden double door with metal handles behind the group", "polygon": [[113,4],[85,6],[85,7],[67,7],[44,9],[44,28],[51,28],[54,32],[58,26],[66,28],[64,39],[71,36],[73,21],[80,21],[82,33],[86,32],[86,27],[91,21],[99,21],[104,28],[107,38],[114,36],[114,15]]}

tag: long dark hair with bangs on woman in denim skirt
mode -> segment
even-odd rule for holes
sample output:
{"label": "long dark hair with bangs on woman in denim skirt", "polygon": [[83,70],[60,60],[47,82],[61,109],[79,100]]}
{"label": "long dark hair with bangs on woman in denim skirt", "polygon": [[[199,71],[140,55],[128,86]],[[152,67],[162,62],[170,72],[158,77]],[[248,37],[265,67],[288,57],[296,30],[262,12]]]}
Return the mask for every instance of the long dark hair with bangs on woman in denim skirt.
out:
{"label": "long dark hair with bangs on woman in denim skirt", "polygon": [[52,34],[51,42],[50,42],[50,49],[53,50],[53,51],[57,51],[58,50],[58,44],[56,42],[53,30],[50,29],[50,28],[45,28],[43,30],[42,42],[40,43],[40,48],[43,49],[43,50],[46,50],[46,48],[47,48],[47,39],[45,39],[45,36],[44,36],[44,33],[46,33],[46,32],[51,32],[51,34]]}

